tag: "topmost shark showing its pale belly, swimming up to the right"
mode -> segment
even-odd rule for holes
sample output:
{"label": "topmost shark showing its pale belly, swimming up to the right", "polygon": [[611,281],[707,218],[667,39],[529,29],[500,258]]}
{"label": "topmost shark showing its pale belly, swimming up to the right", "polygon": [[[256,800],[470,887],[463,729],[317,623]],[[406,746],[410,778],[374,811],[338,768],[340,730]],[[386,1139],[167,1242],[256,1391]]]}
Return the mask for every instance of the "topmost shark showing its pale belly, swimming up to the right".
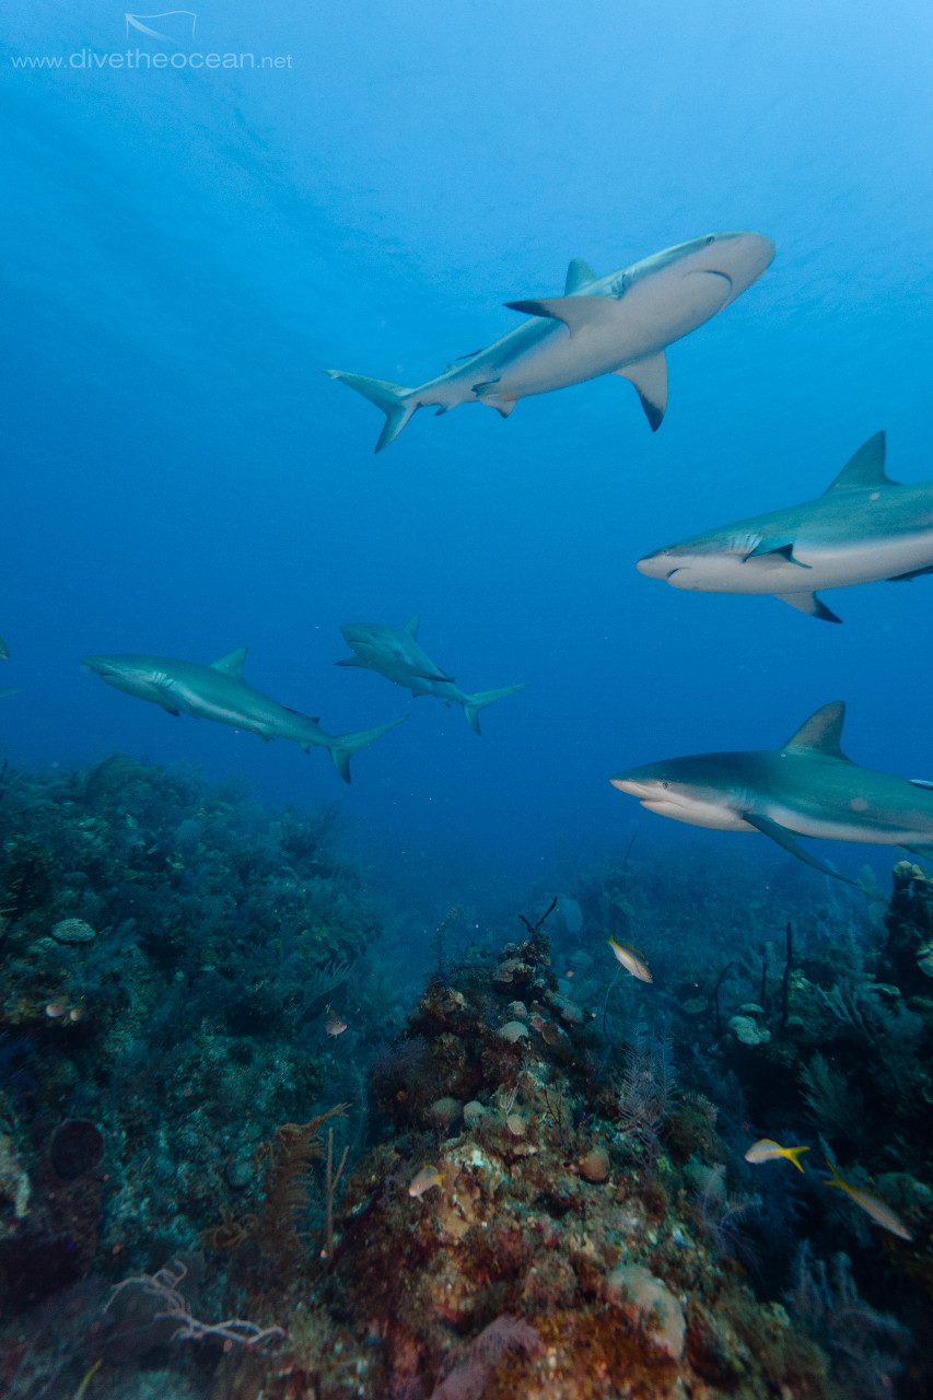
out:
{"label": "topmost shark showing its pale belly, swimming up to the right", "polygon": [[385,413],[381,452],[416,409],[448,413],[486,403],[507,419],[518,399],[618,374],[635,385],[657,431],[667,407],[664,351],[714,316],[761,277],[775,256],[763,234],[707,234],[597,277],[574,258],[563,297],[507,301],[531,319],[485,350],[461,356],[436,379],[406,389],[387,379],[325,370]]}

